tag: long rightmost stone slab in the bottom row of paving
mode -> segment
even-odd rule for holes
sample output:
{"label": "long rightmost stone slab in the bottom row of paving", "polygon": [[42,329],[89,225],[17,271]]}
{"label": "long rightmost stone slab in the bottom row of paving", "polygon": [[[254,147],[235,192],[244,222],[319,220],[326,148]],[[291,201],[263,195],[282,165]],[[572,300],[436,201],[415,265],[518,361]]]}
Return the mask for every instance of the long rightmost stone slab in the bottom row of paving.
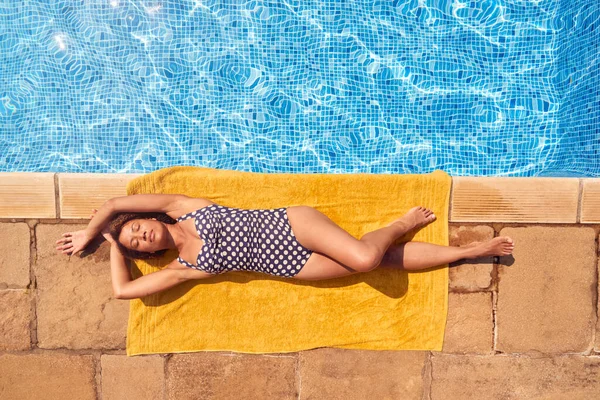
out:
{"label": "long rightmost stone slab in the bottom row of paving", "polygon": [[431,400],[597,399],[600,357],[432,356]]}

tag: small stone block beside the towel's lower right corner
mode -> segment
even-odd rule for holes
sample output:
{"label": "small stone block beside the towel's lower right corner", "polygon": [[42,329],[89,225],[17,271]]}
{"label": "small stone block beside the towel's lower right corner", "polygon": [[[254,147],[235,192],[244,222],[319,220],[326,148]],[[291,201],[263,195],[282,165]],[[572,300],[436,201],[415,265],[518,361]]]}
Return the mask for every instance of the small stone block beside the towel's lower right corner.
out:
{"label": "small stone block beside the towel's lower right corner", "polygon": [[444,353],[493,354],[492,293],[450,293]]}

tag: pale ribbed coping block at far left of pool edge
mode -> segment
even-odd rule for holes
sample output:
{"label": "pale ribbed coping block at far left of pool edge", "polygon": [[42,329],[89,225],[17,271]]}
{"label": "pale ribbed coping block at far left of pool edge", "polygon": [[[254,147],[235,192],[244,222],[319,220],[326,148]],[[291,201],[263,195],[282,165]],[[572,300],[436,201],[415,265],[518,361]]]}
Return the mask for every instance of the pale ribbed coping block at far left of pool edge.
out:
{"label": "pale ribbed coping block at far left of pool edge", "polygon": [[0,218],[56,218],[54,173],[0,172]]}

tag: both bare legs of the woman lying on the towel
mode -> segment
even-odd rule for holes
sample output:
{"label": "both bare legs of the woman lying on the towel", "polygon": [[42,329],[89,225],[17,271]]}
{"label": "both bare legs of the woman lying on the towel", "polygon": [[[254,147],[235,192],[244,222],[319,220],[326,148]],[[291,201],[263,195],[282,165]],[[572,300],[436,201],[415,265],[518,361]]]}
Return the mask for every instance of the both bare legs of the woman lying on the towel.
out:
{"label": "both bare legs of the woman lying on the towel", "polygon": [[[416,209],[422,218],[420,220],[422,223],[427,219],[426,214],[422,208]],[[414,214],[413,210],[415,209],[411,212]],[[410,216],[413,217],[414,215]],[[302,280],[339,278],[370,271],[378,266],[418,270],[463,258],[482,257],[492,253],[510,254],[514,247],[509,238],[502,237],[463,248],[421,242],[408,242],[389,248],[391,243],[411,230],[410,222],[403,223],[403,218],[387,227],[369,232],[357,240],[327,216],[311,207],[290,207],[288,219],[296,239],[304,247],[313,251],[312,256],[295,278]],[[383,253],[378,254],[381,249],[384,249]],[[368,254],[371,255],[365,256]]]}

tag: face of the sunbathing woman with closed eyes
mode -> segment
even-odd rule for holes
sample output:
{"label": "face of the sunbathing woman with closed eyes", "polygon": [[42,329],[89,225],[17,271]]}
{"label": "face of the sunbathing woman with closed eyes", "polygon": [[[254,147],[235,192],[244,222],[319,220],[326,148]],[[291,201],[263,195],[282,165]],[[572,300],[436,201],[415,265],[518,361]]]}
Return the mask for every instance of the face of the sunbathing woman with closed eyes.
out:
{"label": "face of the sunbathing woman with closed eyes", "polygon": [[119,242],[131,250],[153,253],[167,246],[164,224],[152,219],[132,219],[121,229]]}

